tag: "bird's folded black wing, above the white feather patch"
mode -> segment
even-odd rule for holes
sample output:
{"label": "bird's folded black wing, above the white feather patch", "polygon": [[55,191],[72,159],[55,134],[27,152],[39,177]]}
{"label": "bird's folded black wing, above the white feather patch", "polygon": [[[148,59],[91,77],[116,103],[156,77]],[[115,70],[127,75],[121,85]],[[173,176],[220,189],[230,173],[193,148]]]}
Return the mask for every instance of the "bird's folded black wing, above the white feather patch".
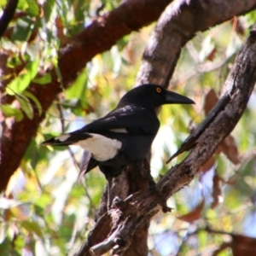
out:
{"label": "bird's folded black wing, above the white feather patch", "polygon": [[73,133],[105,133],[108,131],[124,132],[131,134],[155,134],[160,122],[153,111],[147,108],[126,106],[116,108],[101,119],[85,125]]}

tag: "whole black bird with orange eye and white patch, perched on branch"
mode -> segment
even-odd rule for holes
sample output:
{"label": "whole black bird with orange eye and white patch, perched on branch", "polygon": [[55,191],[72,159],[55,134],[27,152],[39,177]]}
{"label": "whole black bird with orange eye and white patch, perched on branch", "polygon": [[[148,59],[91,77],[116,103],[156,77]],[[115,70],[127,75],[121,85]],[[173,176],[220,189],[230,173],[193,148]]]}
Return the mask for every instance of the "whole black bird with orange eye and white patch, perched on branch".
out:
{"label": "whole black bird with orange eye and white patch, perched on branch", "polygon": [[84,173],[99,166],[107,178],[114,177],[125,166],[143,161],[160,127],[155,109],[174,103],[194,102],[159,85],[143,84],[127,92],[117,107],[101,119],[42,144],[79,144],[91,154]]}

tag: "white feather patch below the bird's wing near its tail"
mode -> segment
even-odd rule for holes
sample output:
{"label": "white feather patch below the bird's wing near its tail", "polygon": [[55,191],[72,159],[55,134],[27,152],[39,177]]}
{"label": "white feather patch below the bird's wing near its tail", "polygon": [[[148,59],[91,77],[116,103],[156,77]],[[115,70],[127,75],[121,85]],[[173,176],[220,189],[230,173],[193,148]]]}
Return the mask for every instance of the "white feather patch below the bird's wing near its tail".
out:
{"label": "white feather patch below the bird's wing near its tail", "polygon": [[122,143],[116,139],[95,133],[90,133],[90,135],[92,137],[79,141],[74,145],[79,145],[81,148],[89,151],[95,160],[105,161],[112,159],[122,147]]}

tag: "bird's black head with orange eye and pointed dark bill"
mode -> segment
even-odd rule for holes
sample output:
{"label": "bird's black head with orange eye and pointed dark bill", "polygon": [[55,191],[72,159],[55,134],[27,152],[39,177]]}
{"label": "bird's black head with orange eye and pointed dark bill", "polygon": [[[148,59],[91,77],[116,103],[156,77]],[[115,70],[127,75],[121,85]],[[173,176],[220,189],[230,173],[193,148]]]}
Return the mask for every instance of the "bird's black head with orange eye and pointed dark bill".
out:
{"label": "bird's black head with orange eye and pointed dark bill", "polygon": [[137,105],[155,109],[164,104],[195,104],[195,102],[186,96],[166,90],[160,85],[143,84],[128,91],[121,98],[118,107]]}

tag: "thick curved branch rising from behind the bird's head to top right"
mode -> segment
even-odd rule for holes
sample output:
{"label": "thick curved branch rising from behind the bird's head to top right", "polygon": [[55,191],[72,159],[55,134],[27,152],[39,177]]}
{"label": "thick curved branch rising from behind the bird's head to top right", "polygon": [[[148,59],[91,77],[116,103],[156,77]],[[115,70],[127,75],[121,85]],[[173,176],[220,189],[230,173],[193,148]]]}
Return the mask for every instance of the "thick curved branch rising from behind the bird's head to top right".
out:
{"label": "thick curved branch rising from behind the bird's head to top right", "polygon": [[179,0],[170,4],[148,40],[137,84],[150,82],[168,87],[181,48],[196,32],[203,32],[255,7],[255,0]]}

